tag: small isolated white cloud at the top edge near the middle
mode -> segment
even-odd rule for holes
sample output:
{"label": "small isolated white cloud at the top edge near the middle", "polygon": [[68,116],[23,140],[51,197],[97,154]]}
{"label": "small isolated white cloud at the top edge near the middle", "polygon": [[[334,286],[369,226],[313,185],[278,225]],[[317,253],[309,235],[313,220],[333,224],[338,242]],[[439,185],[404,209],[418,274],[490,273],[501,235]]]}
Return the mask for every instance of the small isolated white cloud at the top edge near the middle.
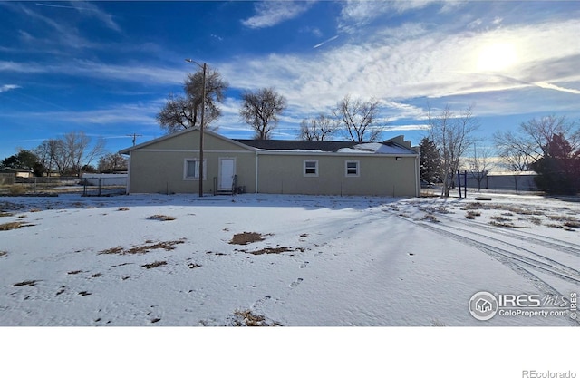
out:
{"label": "small isolated white cloud at the top edge near the middle", "polygon": [[274,26],[286,20],[295,18],[303,14],[313,5],[312,1],[264,1],[256,3],[256,15],[243,20],[242,24],[252,28],[259,29],[263,27]]}

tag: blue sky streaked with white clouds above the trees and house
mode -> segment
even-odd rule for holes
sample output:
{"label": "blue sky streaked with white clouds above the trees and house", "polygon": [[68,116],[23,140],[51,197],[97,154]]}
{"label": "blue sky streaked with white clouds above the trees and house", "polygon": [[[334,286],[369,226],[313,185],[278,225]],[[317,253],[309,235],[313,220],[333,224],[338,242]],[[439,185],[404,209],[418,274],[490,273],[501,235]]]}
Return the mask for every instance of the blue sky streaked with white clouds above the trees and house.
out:
{"label": "blue sky streaked with white clouds above the trees and house", "polygon": [[[107,150],[160,137],[155,116],[208,63],[229,82],[218,132],[251,138],[239,93],[288,102],[275,139],[346,94],[381,102],[382,137],[425,134],[427,106],[474,104],[482,137],[580,121],[577,1],[0,2],[0,159],[70,131]],[[488,141],[491,144],[491,141]]]}

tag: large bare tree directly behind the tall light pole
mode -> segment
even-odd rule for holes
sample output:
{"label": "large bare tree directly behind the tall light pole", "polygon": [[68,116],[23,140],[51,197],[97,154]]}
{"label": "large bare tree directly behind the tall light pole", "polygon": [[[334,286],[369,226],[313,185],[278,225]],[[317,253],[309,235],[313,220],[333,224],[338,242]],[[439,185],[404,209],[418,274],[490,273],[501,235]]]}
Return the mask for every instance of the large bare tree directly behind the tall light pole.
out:
{"label": "large bare tree directly behind the tall light pole", "polygon": [[[216,70],[206,73],[206,112],[204,128],[221,115],[217,103],[223,102],[227,82]],[[203,97],[203,72],[189,73],[184,85],[185,96],[169,93],[165,106],[157,114],[157,121],[162,129],[173,133],[189,128],[199,127]]]}

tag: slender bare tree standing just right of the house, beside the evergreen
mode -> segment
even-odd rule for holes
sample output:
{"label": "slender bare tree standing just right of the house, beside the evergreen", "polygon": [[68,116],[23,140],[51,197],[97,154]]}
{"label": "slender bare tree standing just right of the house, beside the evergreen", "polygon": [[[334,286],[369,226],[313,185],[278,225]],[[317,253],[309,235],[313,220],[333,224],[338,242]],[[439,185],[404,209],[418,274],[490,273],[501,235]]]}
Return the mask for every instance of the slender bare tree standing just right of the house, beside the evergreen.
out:
{"label": "slender bare tree standing just right of the house, beside the evergreen", "polygon": [[427,111],[430,126],[430,140],[435,143],[441,156],[441,178],[443,189],[441,195],[449,197],[453,179],[452,175],[459,169],[459,160],[469,147],[476,141],[475,131],[479,122],[473,116],[473,105],[469,105],[458,115],[453,113],[449,105],[439,114]]}

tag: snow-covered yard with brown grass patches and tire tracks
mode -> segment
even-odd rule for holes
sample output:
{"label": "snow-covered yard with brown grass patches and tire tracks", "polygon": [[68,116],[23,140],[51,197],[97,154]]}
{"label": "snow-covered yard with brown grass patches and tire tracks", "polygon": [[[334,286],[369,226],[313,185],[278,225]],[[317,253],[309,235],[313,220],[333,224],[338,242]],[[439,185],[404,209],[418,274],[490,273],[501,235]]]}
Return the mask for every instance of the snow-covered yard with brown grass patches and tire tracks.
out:
{"label": "snow-covered yard with brown grass patches and tire tracks", "polygon": [[0,325],[578,325],[469,313],[580,287],[580,202],[490,197],[0,199]]}

